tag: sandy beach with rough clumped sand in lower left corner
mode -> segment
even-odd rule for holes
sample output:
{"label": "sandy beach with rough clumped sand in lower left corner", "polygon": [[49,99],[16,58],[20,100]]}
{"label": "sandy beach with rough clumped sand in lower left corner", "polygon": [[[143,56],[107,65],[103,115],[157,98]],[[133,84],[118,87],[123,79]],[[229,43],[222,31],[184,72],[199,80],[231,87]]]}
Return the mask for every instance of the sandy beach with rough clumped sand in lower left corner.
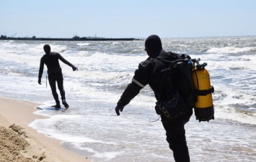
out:
{"label": "sandy beach with rough clumped sand in lower left corner", "polygon": [[27,126],[35,115],[36,103],[0,97],[0,161],[87,162],[87,157],[61,147],[61,141],[48,138]]}

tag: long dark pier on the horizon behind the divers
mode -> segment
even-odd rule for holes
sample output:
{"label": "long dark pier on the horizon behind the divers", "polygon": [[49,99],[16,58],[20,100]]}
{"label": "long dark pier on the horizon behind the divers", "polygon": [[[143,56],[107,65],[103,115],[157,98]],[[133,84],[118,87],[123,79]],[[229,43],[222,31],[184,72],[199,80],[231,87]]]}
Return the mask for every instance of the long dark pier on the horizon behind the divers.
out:
{"label": "long dark pier on the horizon behind the divers", "polygon": [[144,40],[136,38],[104,38],[104,37],[78,37],[73,38],[37,38],[33,37],[6,37],[1,35],[0,40],[34,40],[34,41],[134,41]]}

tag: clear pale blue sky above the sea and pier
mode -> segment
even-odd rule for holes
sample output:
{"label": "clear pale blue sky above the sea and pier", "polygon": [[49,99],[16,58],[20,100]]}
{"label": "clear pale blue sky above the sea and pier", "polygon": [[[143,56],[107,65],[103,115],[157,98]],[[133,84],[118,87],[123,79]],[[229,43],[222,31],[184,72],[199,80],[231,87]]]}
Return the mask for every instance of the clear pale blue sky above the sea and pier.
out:
{"label": "clear pale blue sky above the sea and pier", "polygon": [[0,0],[7,37],[256,35],[256,0]]}

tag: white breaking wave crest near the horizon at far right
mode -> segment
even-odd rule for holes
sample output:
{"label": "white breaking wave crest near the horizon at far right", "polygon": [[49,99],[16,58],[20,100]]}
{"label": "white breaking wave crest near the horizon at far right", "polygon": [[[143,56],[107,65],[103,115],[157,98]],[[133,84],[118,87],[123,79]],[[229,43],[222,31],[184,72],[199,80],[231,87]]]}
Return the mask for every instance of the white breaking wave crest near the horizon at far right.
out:
{"label": "white breaking wave crest near the horizon at far right", "polygon": [[254,52],[256,51],[256,47],[221,47],[221,48],[211,48],[208,49],[207,53],[221,53],[221,54],[228,54],[228,53],[239,53],[239,52]]}

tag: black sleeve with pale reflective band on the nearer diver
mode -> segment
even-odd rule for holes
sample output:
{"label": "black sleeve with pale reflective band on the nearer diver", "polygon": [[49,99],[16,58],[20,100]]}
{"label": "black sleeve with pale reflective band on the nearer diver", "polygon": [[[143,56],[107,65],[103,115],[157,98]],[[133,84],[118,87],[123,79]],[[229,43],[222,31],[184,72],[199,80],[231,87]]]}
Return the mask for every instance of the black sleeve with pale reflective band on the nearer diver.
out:
{"label": "black sleeve with pale reflective band on the nearer diver", "polygon": [[132,82],[126,87],[123,95],[118,101],[118,106],[120,108],[128,105],[133,97],[136,97],[140,90],[148,84],[148,72],[149,70],[146,70],[143,65],[140,64],[138,66],[138,70],[135,71]]}

